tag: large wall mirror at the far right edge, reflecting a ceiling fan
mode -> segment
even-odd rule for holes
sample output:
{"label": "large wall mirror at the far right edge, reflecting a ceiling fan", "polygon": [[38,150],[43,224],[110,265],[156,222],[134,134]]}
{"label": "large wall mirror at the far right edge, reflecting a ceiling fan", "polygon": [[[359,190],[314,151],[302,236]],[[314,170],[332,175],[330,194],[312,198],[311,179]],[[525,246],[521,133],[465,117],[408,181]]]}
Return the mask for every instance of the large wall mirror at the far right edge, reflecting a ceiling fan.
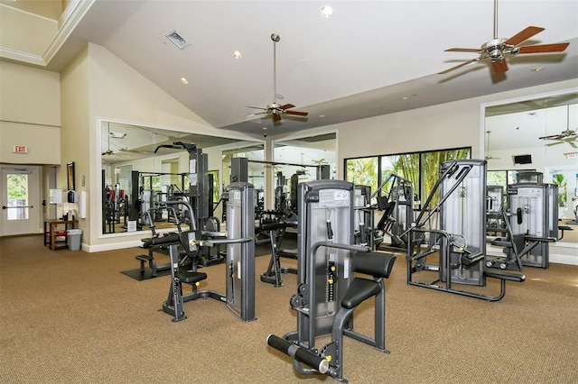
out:
{"label": "large wall mirror at the far right edge, reflecting a ceiling fan", "polygon": [[515,183],[520,171],[558,185],[559,224],[574,225],[562,242],[578,242],[578,89],[485,105],[489,184]]}

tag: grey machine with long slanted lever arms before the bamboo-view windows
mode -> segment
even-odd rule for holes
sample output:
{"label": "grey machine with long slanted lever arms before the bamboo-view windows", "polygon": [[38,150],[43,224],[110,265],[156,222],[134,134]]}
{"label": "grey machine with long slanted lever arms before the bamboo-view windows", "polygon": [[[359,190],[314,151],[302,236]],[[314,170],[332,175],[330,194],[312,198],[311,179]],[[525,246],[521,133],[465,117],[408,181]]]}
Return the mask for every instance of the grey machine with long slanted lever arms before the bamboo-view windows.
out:
{"label": "grey machine with long slanted lever arms before the bamboo-view windows", "polygon": [[[433,204],[439,192],[439,202]],[[524,275],[486,270],[486,161],[451,160],[440,165],[422,210],[411,224],[407,246],[407,284],[467,297],[498,301],[506,294],[506,281],[522,282]],[[440,228],[426,227],[439,215]],[[426,259],[434,258],[437,264]],[[437,272],[433,280],[415,279],[423,271]],[[424,274],[431,279],[431,274]],[[498,296],[454,288],[454,284],[486,286],[486,278],[500,279]]]}

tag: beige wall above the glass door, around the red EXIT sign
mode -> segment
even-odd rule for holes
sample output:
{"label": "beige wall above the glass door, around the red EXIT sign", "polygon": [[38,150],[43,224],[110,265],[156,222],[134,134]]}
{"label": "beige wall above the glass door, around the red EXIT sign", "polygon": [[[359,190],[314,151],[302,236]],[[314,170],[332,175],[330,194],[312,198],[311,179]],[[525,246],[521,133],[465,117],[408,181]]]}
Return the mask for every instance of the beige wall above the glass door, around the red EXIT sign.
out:
{"label": "beige wall above the glass door, around the red EXIT sign", "polygon": [[[0,61],[0,163],[61,163],[60,75]],[[14,145],[28,153],[13,153]]]}

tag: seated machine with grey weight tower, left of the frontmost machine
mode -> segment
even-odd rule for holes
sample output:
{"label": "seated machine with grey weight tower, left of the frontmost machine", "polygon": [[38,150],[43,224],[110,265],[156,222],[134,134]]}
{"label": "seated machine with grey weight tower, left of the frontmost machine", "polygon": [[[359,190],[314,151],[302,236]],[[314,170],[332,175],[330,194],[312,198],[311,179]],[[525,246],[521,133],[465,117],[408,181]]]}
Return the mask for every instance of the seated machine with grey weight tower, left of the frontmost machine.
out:
{"label": "seated machine with grey weight tower, left of the frontmost machine", "polygon": [[[196,220],[192,206],[185,200],[165,202],[158,209],[176,211],[179,206],[186,209],[191,226],[182,231],[180,221],[175,215],[178,233],[144,239],[144,247],[165,245],[169,248],[171,265],[171,288],[167,300],[163,302],[163,312],[172,315],[173,322],[186,319],[183,304],[198,298],[214,298],[227,304],[228,308],[245,321],[255,320],[255,210],[253,206],[253,186],[248,183],[232,183],[227,187],[228,221],[226,238],[202,240],[198,237]],[[201,246],[212,247],[227,245],[226,281],[227,292],[222,295],[212,290],[199,290],[200,281],[207,274],[198,270]],[[190,266],[182,261],[190,259]],[[186,267],[185,267],[186,266]],[[190,294],[183,294],[182,284],[192,287]]]}

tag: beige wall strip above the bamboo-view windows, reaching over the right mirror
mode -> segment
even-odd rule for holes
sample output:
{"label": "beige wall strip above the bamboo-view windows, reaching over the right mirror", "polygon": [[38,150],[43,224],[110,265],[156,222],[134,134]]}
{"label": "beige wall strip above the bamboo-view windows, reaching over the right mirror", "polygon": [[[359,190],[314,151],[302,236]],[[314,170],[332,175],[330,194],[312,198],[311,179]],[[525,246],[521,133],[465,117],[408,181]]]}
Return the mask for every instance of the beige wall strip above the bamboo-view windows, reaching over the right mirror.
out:
{"label": "beige wall strip above the bamboo-view windows, reaching over the right mirror", "polygon": [[472,157],[483,159],[481,105],[573,87],[578,79],[325,127],[338,130],[338,177],[343,178],[343,160],[352,157],[471,146]]}

